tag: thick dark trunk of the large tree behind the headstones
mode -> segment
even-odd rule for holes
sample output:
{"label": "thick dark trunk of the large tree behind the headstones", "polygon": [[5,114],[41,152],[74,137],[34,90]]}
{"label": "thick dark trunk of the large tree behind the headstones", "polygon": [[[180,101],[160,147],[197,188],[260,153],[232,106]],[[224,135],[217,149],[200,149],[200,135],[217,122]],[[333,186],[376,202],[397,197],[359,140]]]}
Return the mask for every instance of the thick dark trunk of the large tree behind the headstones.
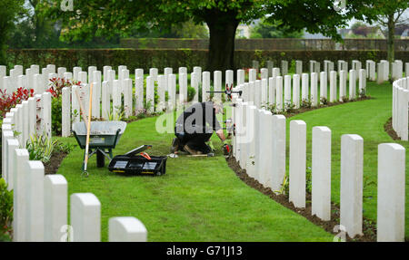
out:
{"label": "thick dark trunk of the large tree behind the headstones", "polygon": [[235,12],[210,10],[206,24],[209,27],[209,53],[206,70],[209,72],[234,70],[234,37],[239,24]]}

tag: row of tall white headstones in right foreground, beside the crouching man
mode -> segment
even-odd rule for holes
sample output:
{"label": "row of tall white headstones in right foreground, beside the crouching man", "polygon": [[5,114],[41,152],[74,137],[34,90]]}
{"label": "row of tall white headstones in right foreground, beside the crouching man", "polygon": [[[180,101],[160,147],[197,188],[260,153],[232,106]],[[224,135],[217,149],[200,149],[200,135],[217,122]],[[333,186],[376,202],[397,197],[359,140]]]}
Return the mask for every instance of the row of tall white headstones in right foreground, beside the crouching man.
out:
{"label": "row of tall white headstones in right foreground, beside the crouching man", "polygon": [[[264,188],[282,192],[286,167],[286,123],[283,115],[260,110],[234,94],[234,158]],[[289,200],[305,207],[306,124],[290,121]],[[312,131],[312,214],[331,219],[331,130]],[[340,225],[350,237],[363,235],[364,140],[356,134],[341,138]],[[378,146],[377,240],[404,241],[405,149]]]}

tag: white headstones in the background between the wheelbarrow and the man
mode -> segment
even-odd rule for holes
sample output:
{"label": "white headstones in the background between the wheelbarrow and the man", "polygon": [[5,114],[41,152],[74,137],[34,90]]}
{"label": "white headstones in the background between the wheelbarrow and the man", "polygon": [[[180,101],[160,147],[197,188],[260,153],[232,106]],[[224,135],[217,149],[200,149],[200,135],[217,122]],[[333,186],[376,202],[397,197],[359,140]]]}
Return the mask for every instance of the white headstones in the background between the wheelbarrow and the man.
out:
{"label": "white headstones in the background between the wheelbarrow and the man", "polygon": [[[135,109],[133,108],[133,88],[134,82],[129,78],[129,71],[126,66],[120,66],[118,79],[115,79],[115,71],[109,66],[104,66],[107,80],[101,83],[101,72],[94,70],[93,81],[93,113],[94,118],[102,117],[108,120],[109,114],[116,114],[119,108],[124,106],[125,117],[140,113],[144,109],[144,83],[146,85],[146,106],[147,113],[154,111],[173,111],[178,106],[187,102],[187,71],[185,67],[179,68],[179,93],[176,94],[176,75],[173,74],[172,68],[165,68],[163,75],[159,75],[156,68],[149,70],[149,76],[144,78],[142,69],[135,70]],[[86,83],[86,72],[80,72],[81,68],[75,67],[74,71],[78,72],[78,78],[74,75],[75,81],[80,81],[81,84],[73,86],[72,89],[63,89],[63,136],[68,136],[70,133],[70,122],[73,116],[74,121],[79,121],[81,118],[75,111],[80,110],[79,102],[76,99],[75,91],[79,90],[79,95],[84,106],[88,105],[88,95],[90,84]],[[89,71],[89,69],[88,69]],[[70,77],[70,74],[65,73],[65,78]],[[233,84],[233,71],[226,72],[227,83]],[[200,67],[195,67],[191,73],[191,86],[195,89],[193,102],[199,101],[199,84],[202,84],[202,101],[210,99],[210,72],[202,72]],[[214,90],[222,91],[222,72],[214,72]],[[158,95],[157,104],[155,105],[155,91]],[[168,98],[166,100],[166,94]],[[95,94],[94,94],[95,93]],[[122,100],[124,96],[124,100]],[[222,93],[214,93],[214,99],[222,100]],[[112,108],[111,108],[112,100]],[[102,113],[100,114],[100,111]],[[85,113],[86,114],[86,113]]]}

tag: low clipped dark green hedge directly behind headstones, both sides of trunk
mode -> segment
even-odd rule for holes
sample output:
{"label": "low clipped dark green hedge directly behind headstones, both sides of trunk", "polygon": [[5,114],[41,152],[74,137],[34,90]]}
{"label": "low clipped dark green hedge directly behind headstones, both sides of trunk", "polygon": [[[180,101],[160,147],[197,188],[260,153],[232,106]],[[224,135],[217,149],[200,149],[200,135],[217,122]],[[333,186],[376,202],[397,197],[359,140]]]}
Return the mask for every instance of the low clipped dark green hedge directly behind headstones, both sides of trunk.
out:
{"label": "low clipped dark green hedge directly behind headstones, both sides of trunk", "polygon": [[[308,61],[315,60],[323,63],[324,60],[336,62],[344,60],[351,63],[352,60],[374,60],[379,62],[386,59],[385,51],[235,51],[235,68],[251,67],[253,60],[260,62],[260,67],[266,66],[266,61],[272,60],[278,64],[281,60],[301,60],[304,62],[304,71],[307,70]],[[395,59],[409,62],[409,52],[395,52]],[[187,67],[191,72],[194,66],[205,68],[207,51],[205,50],[136,50],[136,49],[78,49],[78,50],[8,50],[7,66],[21,64],[25,68],[31,64],[45,67],[47,64],[55,64],[57,67],[66,67],[69,71],[75,66],[85,69],[88,66],[97,66],[102,71],[104,65],[117,67],[126,65],[131,72],[136,68],[158,68],[163,71],[165,67],[172,67],[174,71],[178,67]],[[336,66],[336,65],[335,65]]]}

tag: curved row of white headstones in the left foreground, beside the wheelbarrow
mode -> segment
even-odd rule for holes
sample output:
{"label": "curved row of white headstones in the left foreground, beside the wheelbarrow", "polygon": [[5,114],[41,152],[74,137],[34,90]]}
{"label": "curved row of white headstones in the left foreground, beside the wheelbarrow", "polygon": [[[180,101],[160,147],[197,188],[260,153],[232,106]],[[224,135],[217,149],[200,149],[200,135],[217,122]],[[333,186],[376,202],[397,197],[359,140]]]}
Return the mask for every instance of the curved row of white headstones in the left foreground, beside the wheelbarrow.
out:
{"label": "curved row of white headstones in the left foreground, beside the wheelbarrow", "polygon": [[[38,109],[36,103],[39,103]],[[37,122],[37,111],[39,121]],[[35,95],[8,112],[2,124],[2,177],[13,189],[13,240],[101,241],[101,204],[92,193],[71,195],[67,222],[67,182],[62,175],[46,175],[41,161],[29,160],[25,140],[35,128],[51,134],[51,94]],[[47,127],[45,128],[45,124]],[[46,130],[48,129],[48,130]],[[15,131],[21,131],[15,135]],[[109,220],[109,241],[146,241],[145,226],[135,217]]]}

